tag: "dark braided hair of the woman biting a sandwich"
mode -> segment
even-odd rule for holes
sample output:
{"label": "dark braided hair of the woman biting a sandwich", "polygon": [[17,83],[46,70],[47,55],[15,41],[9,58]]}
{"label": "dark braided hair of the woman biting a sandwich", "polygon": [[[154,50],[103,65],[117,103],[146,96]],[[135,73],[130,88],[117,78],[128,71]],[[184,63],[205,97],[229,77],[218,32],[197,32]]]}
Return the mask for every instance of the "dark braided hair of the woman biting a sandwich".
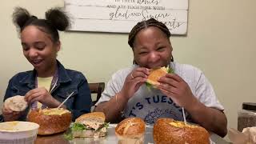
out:
{"label": "dark braided hair of the woman biting a sandwich", "polygon": [[[135,25],[133,27],[132,30],[130,30],[130,34],[129,34],[129,38],[128,38],[128,44],[131,48],[134,49],[134,39],[136,37],[136,35],[138,34],[138,32],[142,29],[146,29],[150,26],[155,26],[158,27],[160,30],[162,30],[162,32],[164,34],[166,34],[166,38],[170,38],[170,30],[167,28],[167,26],[162,23],[159,22],[158,20],[154,19],[154,18],[150,18],[146,21],[142,21],[142,22],[138,22],[137,25]],[[171,56],[171,62],[174,62],[174,57]],[[136,64],[136,62],[134,61],[134,64]]]}

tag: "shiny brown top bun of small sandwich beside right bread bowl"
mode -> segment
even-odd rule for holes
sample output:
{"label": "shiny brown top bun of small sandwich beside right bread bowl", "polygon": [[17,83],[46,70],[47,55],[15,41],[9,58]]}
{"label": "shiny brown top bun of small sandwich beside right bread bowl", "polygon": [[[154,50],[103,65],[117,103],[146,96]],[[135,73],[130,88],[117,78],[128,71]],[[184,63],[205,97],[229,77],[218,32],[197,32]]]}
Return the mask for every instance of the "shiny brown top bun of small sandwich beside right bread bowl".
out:
{"label": "shiny brown top bun of small sandwich beside right bread bowl", "polygon": [[141,118],[126,118],[115,127],[119,138],[140,138],[145,133],[145,122]]}

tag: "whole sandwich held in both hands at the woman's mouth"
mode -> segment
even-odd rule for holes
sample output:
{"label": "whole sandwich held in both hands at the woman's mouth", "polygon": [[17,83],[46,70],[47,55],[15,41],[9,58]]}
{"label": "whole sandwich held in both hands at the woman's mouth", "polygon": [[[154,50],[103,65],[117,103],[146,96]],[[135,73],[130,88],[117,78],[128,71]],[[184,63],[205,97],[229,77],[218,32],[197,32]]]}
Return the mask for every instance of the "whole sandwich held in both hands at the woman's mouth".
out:
{"label": "whole sandwich held in both hands at the woman's mouth", "polygon": [[156,87],[160,85],[158,79],[165,76],[166,74],[174,73],[174,70],[170,67],[158,67],[150,70],[150,75],[146,79],[146,86]]}

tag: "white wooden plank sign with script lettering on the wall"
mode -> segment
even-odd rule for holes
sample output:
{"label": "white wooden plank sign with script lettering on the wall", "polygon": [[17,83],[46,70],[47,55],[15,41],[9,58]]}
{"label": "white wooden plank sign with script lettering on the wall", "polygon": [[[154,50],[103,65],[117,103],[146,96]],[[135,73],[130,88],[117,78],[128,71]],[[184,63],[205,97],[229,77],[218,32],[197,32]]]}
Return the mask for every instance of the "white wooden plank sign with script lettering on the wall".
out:
{"label": "white wooden plank sign with script lettering on the wall", "polygon": [[129,33],[137,22],[155,18],[171,34],[186,34],[188,0],[65,0],[75,31]]}

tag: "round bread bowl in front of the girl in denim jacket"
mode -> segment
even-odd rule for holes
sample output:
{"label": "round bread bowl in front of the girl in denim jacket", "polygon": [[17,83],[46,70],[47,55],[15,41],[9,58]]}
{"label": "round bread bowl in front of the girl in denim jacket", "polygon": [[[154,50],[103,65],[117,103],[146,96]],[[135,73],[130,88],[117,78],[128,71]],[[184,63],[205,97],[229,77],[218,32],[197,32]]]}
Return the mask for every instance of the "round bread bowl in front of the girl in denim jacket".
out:
{"label": "round bread bowl in front of the girl in denim jacket", "polygon": [[46,108],[43,110],[31,110],[28,121],[38,123],[38,134],[57,134],[67,130],[72,121],[69,110],[62,108]]}

